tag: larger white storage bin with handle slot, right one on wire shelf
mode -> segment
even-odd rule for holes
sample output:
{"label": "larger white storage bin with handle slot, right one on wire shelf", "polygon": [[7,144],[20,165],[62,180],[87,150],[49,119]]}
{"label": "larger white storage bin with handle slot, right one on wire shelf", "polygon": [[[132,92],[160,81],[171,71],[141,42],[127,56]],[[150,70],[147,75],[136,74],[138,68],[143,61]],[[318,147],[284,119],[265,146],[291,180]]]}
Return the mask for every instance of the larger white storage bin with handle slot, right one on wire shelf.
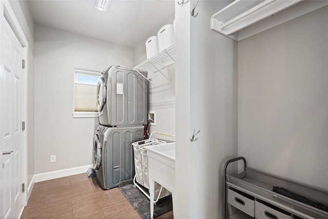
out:
{"label": "larger white storage bin with handle slot, right one on wire shelf", "polygon": [[158,33],[158,49],[165,50],[169,46],[175,44],[174,25],[168,24],[159,29]]}

